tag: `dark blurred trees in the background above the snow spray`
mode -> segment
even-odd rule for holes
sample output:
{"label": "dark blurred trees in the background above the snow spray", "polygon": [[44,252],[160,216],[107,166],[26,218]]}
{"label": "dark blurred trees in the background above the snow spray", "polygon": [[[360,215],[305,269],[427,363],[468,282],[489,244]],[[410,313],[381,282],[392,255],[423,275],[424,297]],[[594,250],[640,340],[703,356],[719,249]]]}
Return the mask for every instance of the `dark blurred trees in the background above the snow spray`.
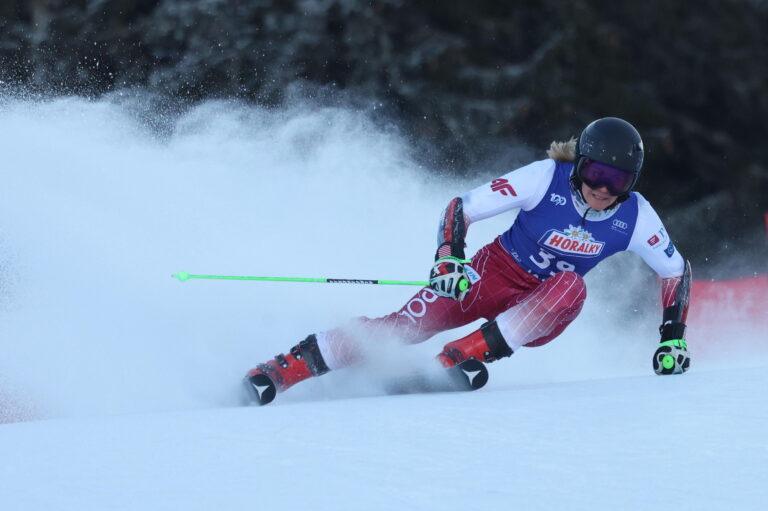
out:
{"label": "dark blurred trees in the background above the snow spray", "polygon": [[488,176],[617,115],[686,252],[765,258],[766,27],[760,0],[6,0],[0,80],[182,103],[301,90],[397,123],[430,168]]}

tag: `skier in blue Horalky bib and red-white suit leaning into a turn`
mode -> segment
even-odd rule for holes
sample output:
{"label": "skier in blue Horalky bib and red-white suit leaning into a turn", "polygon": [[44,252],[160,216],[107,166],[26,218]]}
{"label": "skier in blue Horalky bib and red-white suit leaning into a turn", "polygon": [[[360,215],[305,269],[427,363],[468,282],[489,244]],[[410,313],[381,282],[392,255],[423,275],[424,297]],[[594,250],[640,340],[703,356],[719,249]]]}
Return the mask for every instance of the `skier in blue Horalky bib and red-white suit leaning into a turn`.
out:
{"label": "skier in blue Horalky bib and red-white suit leaning into a turn", "polygon": [[[418,343],[479,318],[487,322],[446,344],[437,359],[449,371],[484,370],[478,362],[560,335],[584,304],[582,277],[624,250],[640,255],[662,279],[654,370],[685,372],[690,264],[648,201],[632,191],[643,164],[640,134],[630,123],[606,117],[589,124],[578,140],[553,142],[547,155],[452,199],[440,221],[429,287],[396,312],[311,334],[288,354],[255,367],[245,378],[253,399],[266,404],[302,380],[355,364],[363,358],[362,337],[384,333]],[[514,208],[520,212],[512,226],[466,260],[469,225]],[[486,379],[487,372],[467,378],[467,388]]]}

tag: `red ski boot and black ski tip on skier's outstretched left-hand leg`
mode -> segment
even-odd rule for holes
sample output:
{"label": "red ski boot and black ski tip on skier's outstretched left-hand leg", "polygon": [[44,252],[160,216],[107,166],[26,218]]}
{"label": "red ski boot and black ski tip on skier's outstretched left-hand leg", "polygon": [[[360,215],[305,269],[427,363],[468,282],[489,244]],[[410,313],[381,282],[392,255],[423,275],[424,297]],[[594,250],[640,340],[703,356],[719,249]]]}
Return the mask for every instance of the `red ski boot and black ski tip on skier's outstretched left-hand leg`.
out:
{"label": "red ski boot and black ski tip on skier's outstretched left-hand leg", "polygon": [[291,348],[288,355],[281,353],[248,371],[244,383],[249,401],[265,405],[275,399],[278,392],[328,370],[313,334]]}

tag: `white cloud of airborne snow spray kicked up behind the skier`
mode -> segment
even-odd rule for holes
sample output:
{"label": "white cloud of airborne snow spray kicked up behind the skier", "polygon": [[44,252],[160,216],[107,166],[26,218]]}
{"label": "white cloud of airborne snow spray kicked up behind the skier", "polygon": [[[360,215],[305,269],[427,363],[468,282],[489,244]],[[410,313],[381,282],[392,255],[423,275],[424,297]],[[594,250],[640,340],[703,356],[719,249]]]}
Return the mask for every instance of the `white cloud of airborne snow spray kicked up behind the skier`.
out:
{"label": "white cloud of airborne snow spray kicked up behind the skier", "polygon": [[[0,402],[19,411],[0,420],[234,406],[253,365],[397,309],[416,289],[170,275],[424,279],[444,205],[487,176],[438,181],[408,152],[364,115],[312,104],[153,117],[140,100],[0,101]],[[474,225],[468,253],[512,218]],[[658,292],[622,308],[608,266],[562,338],[500,362],[491,389],[648,374]],[[376,363],[284,401],[380,392],[390,368],[478,324],[407,350],[384,343]]]}

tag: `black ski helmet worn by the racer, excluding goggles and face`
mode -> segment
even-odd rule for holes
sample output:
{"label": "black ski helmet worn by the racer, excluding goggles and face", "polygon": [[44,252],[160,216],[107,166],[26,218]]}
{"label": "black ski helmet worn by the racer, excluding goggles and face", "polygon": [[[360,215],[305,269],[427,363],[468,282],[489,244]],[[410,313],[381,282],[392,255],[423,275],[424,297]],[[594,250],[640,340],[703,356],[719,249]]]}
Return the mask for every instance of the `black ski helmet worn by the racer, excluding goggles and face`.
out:
{"label": "black ski helmet worn by the racer, excluding goggles and face", "polygon": [[[634,174],[629,191],[637,184],[643,168],[643,139],[634,126],[618,117],[603,117],[584,128],[576,142],[574,184],[581,190],[581,168],[585,160],[594,160]],[[629,197],[621,195],[618,202]]]}

